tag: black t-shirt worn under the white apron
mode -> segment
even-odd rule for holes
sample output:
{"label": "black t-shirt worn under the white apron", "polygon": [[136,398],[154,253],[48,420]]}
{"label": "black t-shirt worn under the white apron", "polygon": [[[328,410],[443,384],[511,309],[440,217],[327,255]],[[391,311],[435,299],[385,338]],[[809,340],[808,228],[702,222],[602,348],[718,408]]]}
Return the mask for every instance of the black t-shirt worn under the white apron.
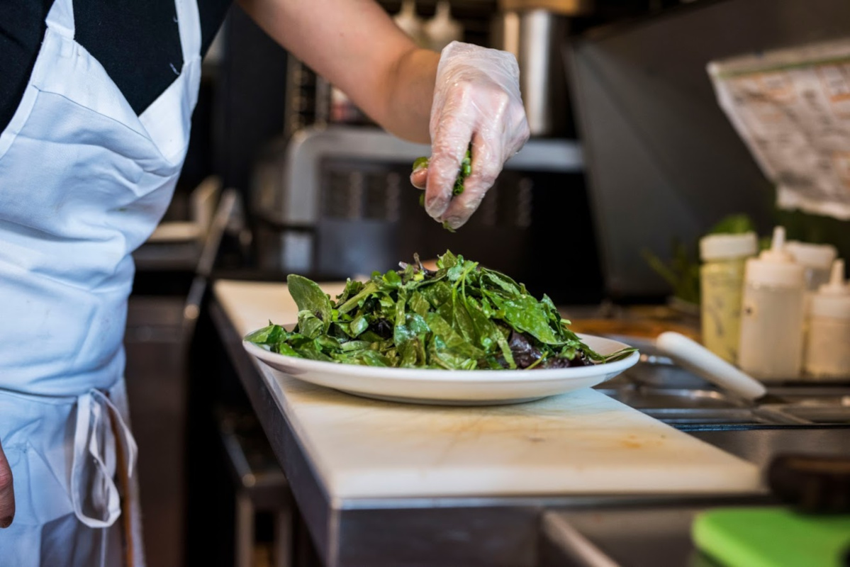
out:
{"label": "black t-shirt worn under the white apron", "polygon": [[[231,0],[198,0],[201,54]],[[54,0],[0,0],[0,132],[20,104]],[[183,69],[174,0],[74,0],[75,39],[141,114]]]}

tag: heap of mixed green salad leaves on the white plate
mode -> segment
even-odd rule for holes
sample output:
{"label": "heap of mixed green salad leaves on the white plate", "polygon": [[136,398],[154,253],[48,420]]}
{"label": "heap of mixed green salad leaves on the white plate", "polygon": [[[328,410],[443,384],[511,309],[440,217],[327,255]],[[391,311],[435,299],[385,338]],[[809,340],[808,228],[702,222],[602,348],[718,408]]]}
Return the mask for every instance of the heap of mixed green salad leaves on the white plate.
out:
{"label": "heap of mixed green salad leaves on the white plate", "polygon": [[366,366],[450,370],[558,368],[619,360],[569,329],[547,296],[451,252],[437,271],[414,264],[348,280],[331,301],[314,282],[287,278],[298,306],[292,331],[269,323],[246,337],[279,354]]}

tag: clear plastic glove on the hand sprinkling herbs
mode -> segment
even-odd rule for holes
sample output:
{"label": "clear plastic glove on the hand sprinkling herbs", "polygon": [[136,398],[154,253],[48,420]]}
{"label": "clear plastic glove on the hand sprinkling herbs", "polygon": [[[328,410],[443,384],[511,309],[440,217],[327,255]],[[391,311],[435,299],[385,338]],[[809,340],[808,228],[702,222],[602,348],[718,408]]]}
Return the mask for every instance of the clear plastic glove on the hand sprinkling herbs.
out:
{"label": "clear plastic glove on the hand sprinkling herbs", "polygon": [[[443,49],[431,106],[431,159],[411,173],[425,189],[425,210],[451,229],[466,223],[501,166],[529,139],[512,54],[453,42]],[[458,167],[472,143],[472,173],[452,197]]]}

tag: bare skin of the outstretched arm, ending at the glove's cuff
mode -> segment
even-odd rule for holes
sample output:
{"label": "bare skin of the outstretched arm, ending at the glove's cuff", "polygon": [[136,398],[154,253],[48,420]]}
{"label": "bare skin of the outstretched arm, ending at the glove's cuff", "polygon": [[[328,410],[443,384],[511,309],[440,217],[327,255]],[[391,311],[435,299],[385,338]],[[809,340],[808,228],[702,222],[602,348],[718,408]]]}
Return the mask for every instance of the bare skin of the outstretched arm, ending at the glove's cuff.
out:
{"label": "bare skin of the outstretched arm, ending at the glove's cuff", "polygon": [[439,54],[416,48],[371,0],[240,0],[276,42],[388,131],[428,143]]}

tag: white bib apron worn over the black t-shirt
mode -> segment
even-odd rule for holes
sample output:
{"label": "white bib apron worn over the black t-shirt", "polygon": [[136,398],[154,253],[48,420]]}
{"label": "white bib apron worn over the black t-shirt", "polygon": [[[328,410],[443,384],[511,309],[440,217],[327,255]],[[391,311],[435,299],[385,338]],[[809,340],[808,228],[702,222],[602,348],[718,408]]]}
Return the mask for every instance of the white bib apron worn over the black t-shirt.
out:
{"label": "white bib apron worn over the black t-shirt", "polygon": [[171,199],[201,76],[197,5],[175,3],[183,69],[136,116],[74,41],[71,0],[55,0],[0,133],[0,443],[17,507],[2,567],[144,564],[134,483],[120,482],[135,465],[122,341],[130,252]]}

